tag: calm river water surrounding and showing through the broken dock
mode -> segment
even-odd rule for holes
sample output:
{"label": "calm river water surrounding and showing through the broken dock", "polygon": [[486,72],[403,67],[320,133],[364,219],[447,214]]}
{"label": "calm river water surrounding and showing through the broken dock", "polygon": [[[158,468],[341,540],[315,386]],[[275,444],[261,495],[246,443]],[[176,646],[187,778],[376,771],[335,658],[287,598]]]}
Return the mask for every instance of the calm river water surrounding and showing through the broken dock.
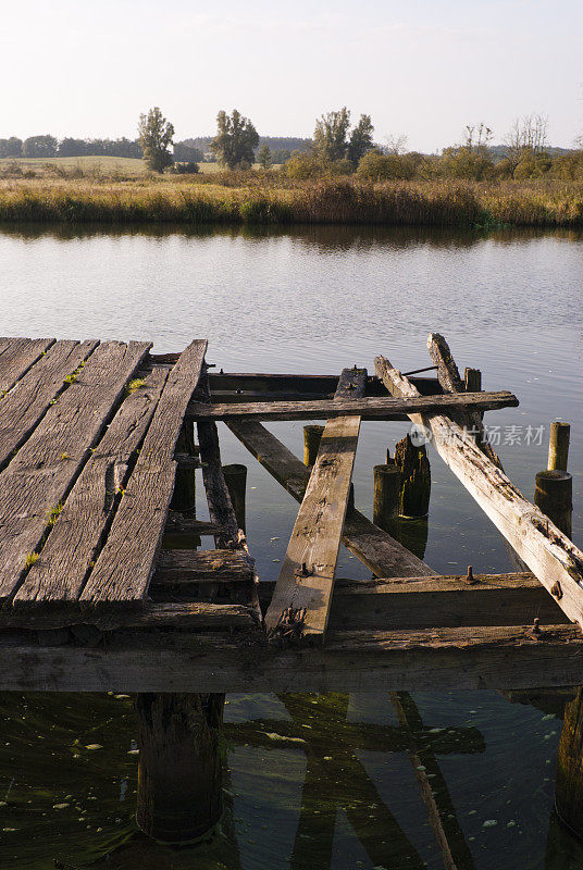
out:
{"label": "calm river water surrounding and showing through the broken dock", "polygon": [[[429,364],[427,334],[442,332],[460,369],[480,368],[484,388],[519,397],[519,408],[486,419],[500,426],[496,449],[526,496],[546,464],[549,421],[572,423],[573,537],[583,543],[581,236],[7,231],[0,274],[4,335],[146,338],[159,352],[208,336],[208,359],[225,371],[333,373],[357,363],[372,372],[379,353],[406,371]],[[301,453],[300,423],[273,431]],[[371,468],[405,431],[363,424],[353,480],[369,515]],[[224,460],[249,467],[249,543],[260,575],[272,579],[297,505],[226,430],[221,437]],[[432,475],[425,560],[446,573],[468,563],[507,570],[497,533],[434,456]],[[346,550],[340,571],[367,576]],[[551,812],[560,705],[541,710],[491,692],[413,700],[423,763],[466,841],[460,868],[583,868]],[[443,867],[389,697],[231,696],[226,719],[224,830],[209,846],[170,850],[135,831],[129,698],[2,695],[0,869],[48,870],[54,859],[197,870]]]}

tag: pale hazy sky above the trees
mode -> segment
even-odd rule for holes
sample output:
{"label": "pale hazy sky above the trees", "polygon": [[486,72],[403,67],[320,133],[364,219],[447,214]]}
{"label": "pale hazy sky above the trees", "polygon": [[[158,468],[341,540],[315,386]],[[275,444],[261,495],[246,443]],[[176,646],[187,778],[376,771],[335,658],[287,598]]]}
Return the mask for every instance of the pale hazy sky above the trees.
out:
{"label": "pale hazy sky above the trees", "polygon": [[346,104],[375,138],[459,141],[517,115],[583,130],[582,0],[0,0],[0,137],[136,136],[160,105],[176,138],[238,108],[260,134],[311,136]]}

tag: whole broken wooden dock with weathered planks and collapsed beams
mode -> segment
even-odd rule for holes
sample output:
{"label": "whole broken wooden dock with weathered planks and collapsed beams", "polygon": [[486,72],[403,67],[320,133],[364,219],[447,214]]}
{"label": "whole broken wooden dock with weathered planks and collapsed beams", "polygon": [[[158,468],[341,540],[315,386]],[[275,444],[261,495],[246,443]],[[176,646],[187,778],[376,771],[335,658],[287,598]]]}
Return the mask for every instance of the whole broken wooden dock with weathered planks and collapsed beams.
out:
{"label": "whole broken wooden dock with weathered planks and collapsed beams", "polygon": [[[0,339],[0,688],[393,692],[583,683],[583,552],[501,469],[441,336],[437,376],[214,372],[207,341]],[[312,468],[262,424],[327,421]],[[413,421],[520,559],[437,576],[357,511],[368,420]],[[218,423],[300,502],[257,576]],[[194,425],[193,425],[194,424]],[[196,433],[196,438],[194,438]],[[209,520],[184,493],[200,470]],[[185,490],[186,481],[186,490]],[[214,547],[201,549],[201,540]],[[336,579],[340,543],[374,579]],[[252,542],[251,542],[252,545]]]}

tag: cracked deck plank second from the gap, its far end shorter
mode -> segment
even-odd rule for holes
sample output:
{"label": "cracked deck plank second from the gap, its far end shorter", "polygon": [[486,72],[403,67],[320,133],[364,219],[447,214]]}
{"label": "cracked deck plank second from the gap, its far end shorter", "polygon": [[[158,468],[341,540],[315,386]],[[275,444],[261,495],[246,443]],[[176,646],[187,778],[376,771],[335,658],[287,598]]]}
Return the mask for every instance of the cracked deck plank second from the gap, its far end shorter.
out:
{"label": "cracked deck plank second from the gap, its far end shorter", "polygon": [[122,403],[54,519],[38,560],[16,593],[15,606],[57,605],[79,597],[166,376],[166,369],[153,369]]}

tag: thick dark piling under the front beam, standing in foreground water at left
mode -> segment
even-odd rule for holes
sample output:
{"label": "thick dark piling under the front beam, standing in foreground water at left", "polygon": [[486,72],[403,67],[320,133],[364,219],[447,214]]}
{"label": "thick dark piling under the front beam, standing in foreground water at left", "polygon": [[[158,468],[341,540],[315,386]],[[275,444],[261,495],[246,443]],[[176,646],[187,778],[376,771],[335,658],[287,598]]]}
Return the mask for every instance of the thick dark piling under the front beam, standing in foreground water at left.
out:
{"label": "thick dark piling under the front beam, standing in foreground water at left", "polygon": [[224,695],[137,696],[137,823],[165,843],[209,834],[223,809],[221,729]]}

